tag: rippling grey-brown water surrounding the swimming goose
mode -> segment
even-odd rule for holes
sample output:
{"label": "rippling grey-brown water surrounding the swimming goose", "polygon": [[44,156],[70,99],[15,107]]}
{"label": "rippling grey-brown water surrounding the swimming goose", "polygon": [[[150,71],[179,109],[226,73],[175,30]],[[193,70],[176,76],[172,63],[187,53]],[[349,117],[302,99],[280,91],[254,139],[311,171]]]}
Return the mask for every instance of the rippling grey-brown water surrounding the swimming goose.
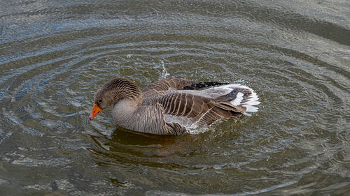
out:
{"label": "rippling grey-brown water surrounding the swimming goose", "polygon": [[[349,195],[349,1],[0,5],[0,195]],[[240,83],[260,109],[177,137],[89,121],[115,77]]]}

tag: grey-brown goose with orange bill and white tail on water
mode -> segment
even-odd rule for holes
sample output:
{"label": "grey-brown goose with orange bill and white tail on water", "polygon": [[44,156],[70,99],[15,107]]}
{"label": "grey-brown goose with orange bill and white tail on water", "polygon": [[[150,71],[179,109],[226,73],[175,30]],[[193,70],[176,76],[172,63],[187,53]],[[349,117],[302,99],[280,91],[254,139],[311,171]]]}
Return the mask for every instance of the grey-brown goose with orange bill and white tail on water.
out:
{"label": "grey-brown goose with orange bill and white tail on water", "polygon": [[96,91],[90,120],[112,106],[113,119],[122,128],[181,135],[218,119],[257,112],[258,99],[253,89],[240,84],[171,78],[141,91],[131,80],[116,78]]}

